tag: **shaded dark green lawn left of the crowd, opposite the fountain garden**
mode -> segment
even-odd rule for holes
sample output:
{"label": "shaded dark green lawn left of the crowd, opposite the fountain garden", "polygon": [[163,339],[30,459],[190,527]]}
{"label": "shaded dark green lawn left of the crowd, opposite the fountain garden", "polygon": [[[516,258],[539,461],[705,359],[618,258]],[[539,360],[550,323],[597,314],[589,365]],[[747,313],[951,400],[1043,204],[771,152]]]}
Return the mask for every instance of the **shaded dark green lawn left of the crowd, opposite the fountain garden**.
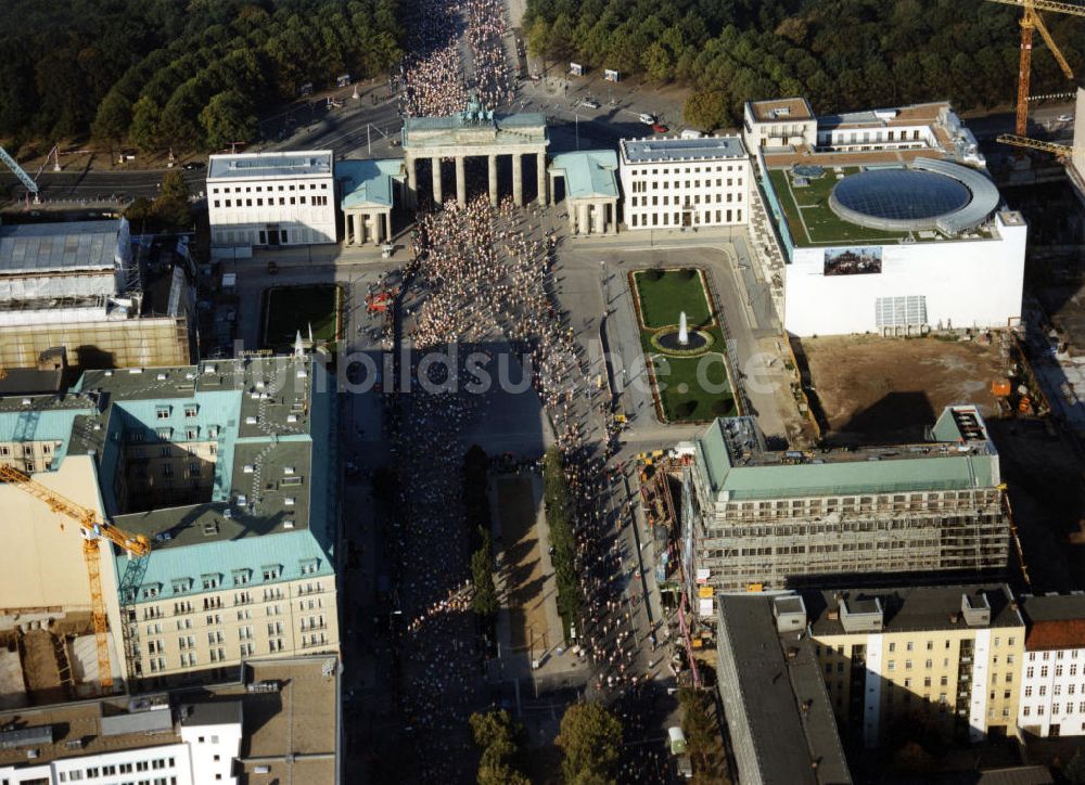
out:
{"label": "shaded dark green lawn left of the crowd, opposite the fountain garden", "polygon": [[308,339],[310,324],[315,340],[333,342],[340,337],[340,287],[335,284],[265,289],[260,343],[276,351],[288,351],[298,331]]}

